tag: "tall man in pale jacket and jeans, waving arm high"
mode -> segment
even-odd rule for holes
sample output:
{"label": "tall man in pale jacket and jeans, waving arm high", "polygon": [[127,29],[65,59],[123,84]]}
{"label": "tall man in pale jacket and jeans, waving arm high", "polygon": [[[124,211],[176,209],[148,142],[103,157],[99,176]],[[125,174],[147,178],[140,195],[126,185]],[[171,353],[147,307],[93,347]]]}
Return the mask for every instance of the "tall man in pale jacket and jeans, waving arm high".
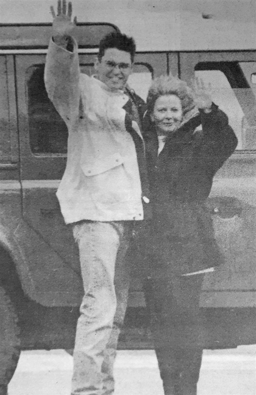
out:
{"label": "tall man in pale jacket and jeans, waving arm high", "polygon": [[144,102],[127,86],[135,43],[120,32],[100,41],[95,75],[79,71],[72,4],[53,7],[45,65],[50,100],[68,127],[68,159],[57,196],[79,246],[85,295],[77,323],[72,394],[114,391],[113,361],[130,284],[125,261],[136,221],[150,216]]}

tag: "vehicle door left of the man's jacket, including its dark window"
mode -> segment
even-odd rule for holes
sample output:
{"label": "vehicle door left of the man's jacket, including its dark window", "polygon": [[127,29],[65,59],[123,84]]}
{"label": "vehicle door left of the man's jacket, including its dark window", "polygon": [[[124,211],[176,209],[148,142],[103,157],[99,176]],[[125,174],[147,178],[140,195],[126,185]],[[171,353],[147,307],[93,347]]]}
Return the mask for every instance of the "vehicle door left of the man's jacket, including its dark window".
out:
{"label": "vehicle door left of the man's jacket, including its dark window", "polygon": [[50,250],[79,272],[72,231],[55,196],[66,166],[68,131],[48,99],[44,63],[45,54],[16,57],[23,218]]}

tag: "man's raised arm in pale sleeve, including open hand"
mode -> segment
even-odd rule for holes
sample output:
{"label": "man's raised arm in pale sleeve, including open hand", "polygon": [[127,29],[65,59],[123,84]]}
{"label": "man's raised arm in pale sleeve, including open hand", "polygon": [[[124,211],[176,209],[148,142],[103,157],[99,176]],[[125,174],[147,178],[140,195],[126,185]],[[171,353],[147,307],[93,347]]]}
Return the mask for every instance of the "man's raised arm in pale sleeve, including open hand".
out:
{"label": "man's raised arm in pale sleeve, including open hand", "polygon": [[79,108],[79,60],[77,43],[72,37],[76,17],[73,22],[72,3],[58,0],[57,15],[53,15],[53,35],[49,44],[45,64],[45,87],[49,99],[66,123],[73,124]]}

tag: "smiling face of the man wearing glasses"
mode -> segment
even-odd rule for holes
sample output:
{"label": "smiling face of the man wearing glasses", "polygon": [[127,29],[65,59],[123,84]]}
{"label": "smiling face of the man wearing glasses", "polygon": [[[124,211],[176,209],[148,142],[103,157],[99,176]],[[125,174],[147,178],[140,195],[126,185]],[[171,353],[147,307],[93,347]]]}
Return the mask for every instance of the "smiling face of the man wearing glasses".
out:
{"label": "smiling face of the man wearing glasses", "polygon": [[117,48],[107,48],[101,60],[96,61],[95,70],[98,79],[111,90],[123,89],[132,72],[130,53]]}

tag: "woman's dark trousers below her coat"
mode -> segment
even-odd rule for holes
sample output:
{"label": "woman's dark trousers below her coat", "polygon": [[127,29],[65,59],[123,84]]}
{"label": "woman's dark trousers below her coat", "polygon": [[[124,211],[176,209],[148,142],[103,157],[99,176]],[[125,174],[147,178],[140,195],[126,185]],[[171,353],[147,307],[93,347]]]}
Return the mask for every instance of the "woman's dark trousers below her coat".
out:
{"label": "woman's dark trousers below her coat", "polygon": [[[203,275],[152,278],[147,302],[165,395],[196,395],[203,343],[199,299]],[[149,285],[149,284],[148,284]]]}

